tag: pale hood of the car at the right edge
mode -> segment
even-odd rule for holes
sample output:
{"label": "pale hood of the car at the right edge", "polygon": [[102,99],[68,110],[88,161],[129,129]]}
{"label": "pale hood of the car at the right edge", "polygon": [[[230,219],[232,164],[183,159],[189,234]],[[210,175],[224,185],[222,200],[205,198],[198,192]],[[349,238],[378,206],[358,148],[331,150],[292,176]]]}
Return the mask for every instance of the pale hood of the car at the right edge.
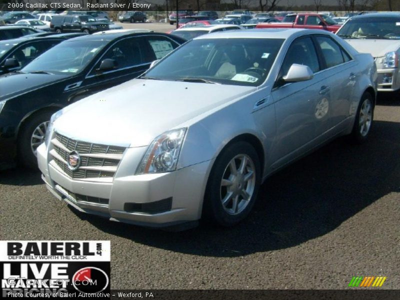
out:
{"label": "pale hood of the car at the right edge", "polygon": [[387,52],[397,51],[400,48],[398,39],[346,38],[345,41],[358,52],[370,53],[373,57],[381,57]]}

